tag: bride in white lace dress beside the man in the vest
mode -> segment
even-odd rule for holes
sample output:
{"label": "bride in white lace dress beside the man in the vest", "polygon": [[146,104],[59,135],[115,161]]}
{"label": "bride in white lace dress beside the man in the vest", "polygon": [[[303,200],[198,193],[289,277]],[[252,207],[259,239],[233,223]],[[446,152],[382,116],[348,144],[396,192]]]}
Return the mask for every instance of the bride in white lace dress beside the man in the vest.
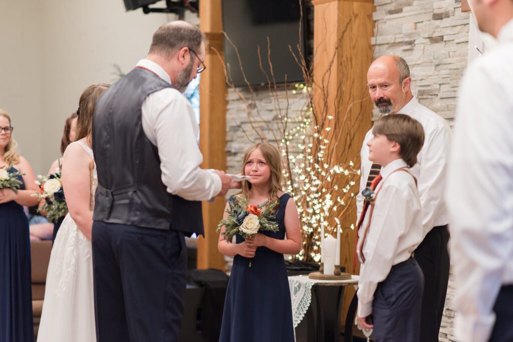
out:
{"label": "bride in white lace dress beside the man in the vest", "polygon": [[95,342],[91,228],[96,165],[91,123],[96,100],[109,84],[80,97],[76,139],[64,153],[62,180],[69,213],[53,244],[37,342]]}

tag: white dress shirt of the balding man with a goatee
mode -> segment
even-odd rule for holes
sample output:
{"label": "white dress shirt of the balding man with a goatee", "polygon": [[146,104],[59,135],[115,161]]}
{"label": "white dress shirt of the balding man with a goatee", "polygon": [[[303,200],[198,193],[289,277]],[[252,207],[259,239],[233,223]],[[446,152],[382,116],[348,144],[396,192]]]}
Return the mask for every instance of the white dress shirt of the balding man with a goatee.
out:
{"label": "white dress shirt of the balding man with a goatee", "polygon": [[[447,157],[451,140],[450,127],[440,115],[427,109],[413,97],[398,114],[418,120],[424,128],[424,146],[417,157],[417,164],[410,171],[418,180],[422,203],[423,239],[436,226],[449,222],[444,201],[447,174]],[[362,160],[360,191],[357,195],[357,218],[363,208],[362,190],[365,189],[372,162],[369,160],[367,142],[372,139],[372,129],[367,132],[360,154]]]}

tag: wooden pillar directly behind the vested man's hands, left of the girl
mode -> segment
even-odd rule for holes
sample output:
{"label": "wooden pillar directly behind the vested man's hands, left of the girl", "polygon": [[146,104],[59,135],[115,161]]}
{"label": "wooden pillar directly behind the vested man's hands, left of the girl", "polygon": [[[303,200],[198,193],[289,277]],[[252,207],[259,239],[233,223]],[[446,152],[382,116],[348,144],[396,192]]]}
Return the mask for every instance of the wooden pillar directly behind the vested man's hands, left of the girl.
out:
{"label": "wooden pillar directly behind the vested man's hands, left of the girl", "polygon": [[[200,150],[202,168],[226,169],[226,85],[223,56],[223,21],[221,0],[200,2],[200,29],[208,38],[205,56],[207,69],[200,78]],[[214,50],[215,49],[215,50]],[[203,202],[205,238],[198,240],[198,268],[224,270],[223,255],[218,250],[215,229],[223,217],[224,197],[213,203]]]}

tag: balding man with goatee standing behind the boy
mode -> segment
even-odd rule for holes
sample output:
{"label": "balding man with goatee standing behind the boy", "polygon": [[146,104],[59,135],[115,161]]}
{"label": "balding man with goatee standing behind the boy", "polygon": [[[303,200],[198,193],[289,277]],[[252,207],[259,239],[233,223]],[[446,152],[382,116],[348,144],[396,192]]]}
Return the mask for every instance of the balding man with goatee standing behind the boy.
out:
{"label": "balding man with goatee standing behind the boy", "polygon": [[[422,243],[415,251],[415,259],[425,275],[420,342],[438,342],[449,282],[449,218],[445,209],[444,189],[450,127],[444,118],[420,104],[413,96],[408,64],[399,56],[386,55],[373,61],[367,72],[367,86],[370,98],[381,114],[408,115],[418,120],[424,129],[424,146],[417,157],[417,164],[410,169],[419,183],[422,206]],[[360,194],[381,168],[379,164],[369,161],[367,142],[371,138],[372,130],[365,136],[362,146]],[[357,217],[360,217],[363,208],[360,194],[357,196]]]}

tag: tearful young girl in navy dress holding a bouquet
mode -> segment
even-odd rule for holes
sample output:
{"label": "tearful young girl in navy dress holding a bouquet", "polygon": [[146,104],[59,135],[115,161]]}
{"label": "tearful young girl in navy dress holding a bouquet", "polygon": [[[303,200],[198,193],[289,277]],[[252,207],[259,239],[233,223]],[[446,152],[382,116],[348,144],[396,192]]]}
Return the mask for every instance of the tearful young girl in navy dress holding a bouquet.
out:
{"label": "tearful young girl in navy dress holding a bouquet", "polygon": [[[294,341],[283,254],[300,251],[301,232],[298,209],[281,190],[282,169],[280,152],[270,144],[255,144],[244,155],[242,174],[251,178],[242,181],[241,194],[229,199],[223,217],[230,220],[230,202],[247,203],[230,225],[240,232],[236,243],[227,241],[228,224],[223,225],[218,243],[221,253],[234,257],[220,341]],[[259,230],[266,222],[265,207],[274,205],[270,220],[277,223],[276,231]]]}

